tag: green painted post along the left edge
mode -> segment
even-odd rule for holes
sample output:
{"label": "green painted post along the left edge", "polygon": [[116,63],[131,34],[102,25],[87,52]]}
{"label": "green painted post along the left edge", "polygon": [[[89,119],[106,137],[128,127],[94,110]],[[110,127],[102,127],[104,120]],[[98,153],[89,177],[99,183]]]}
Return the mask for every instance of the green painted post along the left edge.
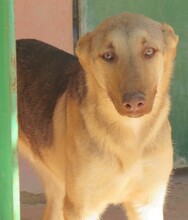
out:
{"label": "green painted post along the left edge", "polygon": [[0,0],[0,220],[19,220],[14,1]]}

